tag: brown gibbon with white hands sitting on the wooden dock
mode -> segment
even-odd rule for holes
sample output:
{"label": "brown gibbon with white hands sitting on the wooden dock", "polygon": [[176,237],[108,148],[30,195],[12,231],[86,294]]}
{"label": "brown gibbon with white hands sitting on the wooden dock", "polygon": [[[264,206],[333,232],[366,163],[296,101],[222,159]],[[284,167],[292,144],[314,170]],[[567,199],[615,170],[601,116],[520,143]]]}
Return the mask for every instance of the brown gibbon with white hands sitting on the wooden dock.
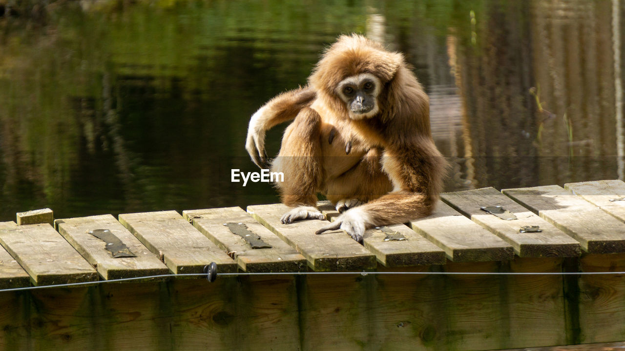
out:
{"label": "brown gibbon with white hands sitting on the wooden dock", "polygon": [[269,166],[266,131],[291,119],[271,162],[272,172],[284,173],[276,185],[292,207],[282,223],[324,219],[317,192],[341,212],[317,234],[340,228],[361,243],[370,227],[431,214],[446,161],[432,141],[429,99],[402,54],[357,34],[340,36],[306,86],[251,117],[246,149],[257,166]]}

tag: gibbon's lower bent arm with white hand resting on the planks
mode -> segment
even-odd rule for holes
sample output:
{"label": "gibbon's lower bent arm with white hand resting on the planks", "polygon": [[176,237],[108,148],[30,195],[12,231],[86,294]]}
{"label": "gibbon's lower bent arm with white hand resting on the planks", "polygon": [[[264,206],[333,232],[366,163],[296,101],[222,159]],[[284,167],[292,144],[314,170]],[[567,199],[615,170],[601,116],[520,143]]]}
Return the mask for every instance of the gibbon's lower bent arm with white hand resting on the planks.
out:
{"label": "gibbon's lower bent arm with white hand resting on the planks", "polygon": [[395,190],[347,210],[316,234],[342,229],[362,243],[362,235],[368,228],[404,223],[431,214],[442,187],[441,174],[446,171],[446,161],[431,139],[419,139],[410,147],[389,148],[384,152],[384,171]]}

